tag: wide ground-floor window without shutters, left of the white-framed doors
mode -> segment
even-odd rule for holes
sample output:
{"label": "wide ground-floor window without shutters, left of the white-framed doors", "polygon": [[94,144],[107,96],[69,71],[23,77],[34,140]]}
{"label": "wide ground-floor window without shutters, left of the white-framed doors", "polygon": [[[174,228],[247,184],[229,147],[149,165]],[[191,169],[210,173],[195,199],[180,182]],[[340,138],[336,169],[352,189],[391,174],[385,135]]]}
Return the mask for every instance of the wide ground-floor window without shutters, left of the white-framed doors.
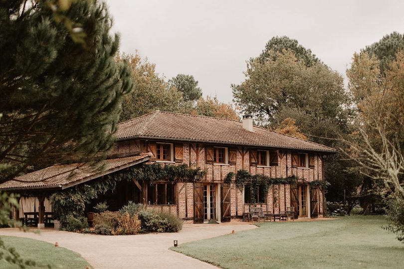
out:
{"label": "wide ground-floor window without shutters, left of the white-framed doors", "polygon": [[157,183],[147,186],[147,201],[149,205],[175,204],[175,185],[170,183]]}

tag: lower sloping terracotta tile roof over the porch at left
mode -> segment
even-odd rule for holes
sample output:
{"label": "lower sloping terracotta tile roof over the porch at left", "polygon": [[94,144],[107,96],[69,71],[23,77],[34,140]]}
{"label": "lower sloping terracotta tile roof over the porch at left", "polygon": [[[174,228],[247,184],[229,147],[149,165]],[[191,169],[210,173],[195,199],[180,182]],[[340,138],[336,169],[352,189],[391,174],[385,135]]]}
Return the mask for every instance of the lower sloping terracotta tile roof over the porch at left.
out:
{"label": "lower sloping terracotta tile roof over the porch at left", "polygon": [[85,163],[52,165],[3,182],[0,184],[0,189],[65,189],[149,159],[149,154],[107,159],[103,164],[104,169],[101,169],[101,167],[90,168]]}

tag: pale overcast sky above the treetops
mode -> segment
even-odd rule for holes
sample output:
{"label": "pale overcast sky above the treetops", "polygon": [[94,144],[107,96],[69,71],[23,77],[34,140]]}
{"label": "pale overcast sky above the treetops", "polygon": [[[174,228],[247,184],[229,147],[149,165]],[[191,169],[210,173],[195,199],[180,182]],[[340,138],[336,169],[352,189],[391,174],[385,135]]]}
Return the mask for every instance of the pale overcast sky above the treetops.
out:
{"label": "pale overcast sky above the treetops", "polygon": [[273,36],[310,48],[344,77],[355,51],[404,32],[404,1],[107,0],[121,51],[147,56],[167,78],[194,75],[203,95],[231,102],[245,61]]}

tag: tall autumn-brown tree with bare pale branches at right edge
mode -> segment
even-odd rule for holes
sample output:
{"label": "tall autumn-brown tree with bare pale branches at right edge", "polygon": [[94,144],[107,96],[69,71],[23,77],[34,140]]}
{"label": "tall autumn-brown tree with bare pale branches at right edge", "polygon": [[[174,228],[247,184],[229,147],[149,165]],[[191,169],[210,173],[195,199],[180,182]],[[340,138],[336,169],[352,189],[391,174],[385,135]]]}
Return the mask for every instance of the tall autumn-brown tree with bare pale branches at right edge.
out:
{"label": "tall autumn-brown tree with bare pale branches at right edge", "polygon": [[385,64],[383,60],[362,51],[354,54],[347,71],[359,129],[349,142],[349,154],[375,181],[373,186],[382,183],[384,194],[390,194],[387,229],[404,241],[404,53]]}

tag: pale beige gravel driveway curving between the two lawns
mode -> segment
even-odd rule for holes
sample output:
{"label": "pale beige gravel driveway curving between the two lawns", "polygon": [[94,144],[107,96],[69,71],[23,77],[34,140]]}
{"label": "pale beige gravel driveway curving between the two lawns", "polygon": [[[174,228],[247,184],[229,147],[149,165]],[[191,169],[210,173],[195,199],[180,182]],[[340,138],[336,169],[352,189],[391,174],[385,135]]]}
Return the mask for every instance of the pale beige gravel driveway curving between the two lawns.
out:
{"label": "pale beige gravel driveway curving between the two lawns", "polygon": [[144,234],[133,236],[101,236],[62,231],[42,230],[40,234],[17,229],[0,229],[0,235],[41,240],[80,253],[94,269],[126,268],[215,268],[199,260],[176,253],[168,248],[179,244],[254,229],[246,224],[186,224],[179,233]]}

